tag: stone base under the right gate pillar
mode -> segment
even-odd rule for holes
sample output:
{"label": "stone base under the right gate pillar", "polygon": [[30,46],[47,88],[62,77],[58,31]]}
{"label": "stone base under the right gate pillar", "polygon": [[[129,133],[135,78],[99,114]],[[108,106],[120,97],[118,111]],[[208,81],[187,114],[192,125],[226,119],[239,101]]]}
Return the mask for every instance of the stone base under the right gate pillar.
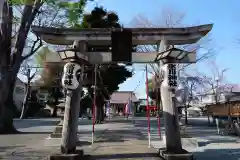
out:
{"label": "stone base under the right gate pillar", "polygon": [[165,160],[195,160],[193,154],[186,150],[183,150],[182,153],[170,153],[165,148],[161,148],[159,149],[159,156]]}

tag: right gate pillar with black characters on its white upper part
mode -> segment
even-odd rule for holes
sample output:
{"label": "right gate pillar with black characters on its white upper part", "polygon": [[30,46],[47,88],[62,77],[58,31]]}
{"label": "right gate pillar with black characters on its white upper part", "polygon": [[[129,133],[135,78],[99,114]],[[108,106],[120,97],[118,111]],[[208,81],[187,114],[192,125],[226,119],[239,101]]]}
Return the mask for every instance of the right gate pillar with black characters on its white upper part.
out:
{"label": "right gate pillar with black characters on its white upper part", "polygon": [[[166,50],[166,42],[161,41],[159,52]],[[176,108],[175,88],[177,87],[176,65],[166,60],[160,61],[163,81],[161,84],[161,100],[166,133],[166,150],[168,153],[181,153],[182,144]]]}

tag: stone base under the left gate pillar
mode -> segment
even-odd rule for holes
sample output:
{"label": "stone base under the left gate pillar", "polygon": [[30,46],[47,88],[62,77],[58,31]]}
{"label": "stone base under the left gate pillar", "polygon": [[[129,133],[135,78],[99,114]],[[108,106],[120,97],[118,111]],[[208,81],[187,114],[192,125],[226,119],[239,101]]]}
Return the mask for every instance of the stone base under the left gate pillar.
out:
{"label": "stone base under the left gate pillar", "polygon": [[48,157],[48,160],[88,160],[89,156],[84,156],[83,150],[76,151],[72,154],[53,154]]}

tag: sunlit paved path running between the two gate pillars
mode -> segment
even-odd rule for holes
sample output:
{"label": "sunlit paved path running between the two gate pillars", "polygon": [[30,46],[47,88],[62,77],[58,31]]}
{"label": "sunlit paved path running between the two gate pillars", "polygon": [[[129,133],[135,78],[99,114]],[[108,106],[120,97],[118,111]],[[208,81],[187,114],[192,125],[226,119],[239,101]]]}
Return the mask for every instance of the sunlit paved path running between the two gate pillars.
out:
{"label": "sunlit paved path running between the two gate pillars", "polygon": [[148,148],[146,137],[134,127],[131,121],[109,121],[109,128],[98,136],[92,146],[91,155],[101,160],[157,160],[157,152]]}

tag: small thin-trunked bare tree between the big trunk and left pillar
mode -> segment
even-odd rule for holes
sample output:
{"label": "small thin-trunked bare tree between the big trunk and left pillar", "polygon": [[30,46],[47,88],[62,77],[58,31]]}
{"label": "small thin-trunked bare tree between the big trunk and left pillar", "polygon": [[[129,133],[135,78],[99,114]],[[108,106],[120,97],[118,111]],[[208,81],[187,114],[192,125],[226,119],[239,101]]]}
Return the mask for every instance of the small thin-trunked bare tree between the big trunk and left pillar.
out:
{"label": "small thin-trunked bare tree between the big trunk and left pillar", "polygon": [[[33,71],[34,69],[34,71]],[[22,104],[22,111],[21,111],[21,116],[20,119],[25,117],[26,111],[28,109],[28,100],[30,98],[30,93],[31,93],[31,82],[33,78],[35,77],[37,73],[36,68],[32,68],[30,60],[25,60],[22,63],[22,66],[20,68],[20,74],[26,77],[26,84],[25,84],[25,96]]]}

